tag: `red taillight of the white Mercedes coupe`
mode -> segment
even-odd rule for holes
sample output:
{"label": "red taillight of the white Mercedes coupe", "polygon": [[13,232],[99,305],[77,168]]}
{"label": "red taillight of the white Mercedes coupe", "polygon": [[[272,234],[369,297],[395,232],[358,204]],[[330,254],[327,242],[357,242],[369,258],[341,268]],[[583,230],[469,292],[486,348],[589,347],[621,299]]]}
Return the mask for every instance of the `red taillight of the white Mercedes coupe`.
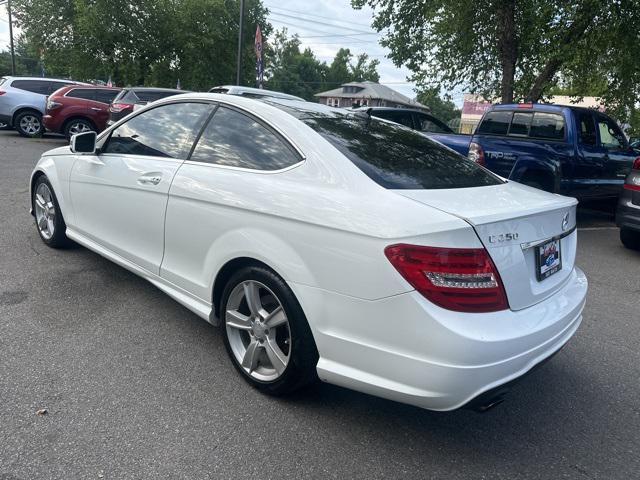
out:
{"label": "red taillight of the white Mercedes coupe", "polygon": [[509,308],[498,270],[484,248],[398,244],[384,254],[412,287],[442,308],[470,313]]}

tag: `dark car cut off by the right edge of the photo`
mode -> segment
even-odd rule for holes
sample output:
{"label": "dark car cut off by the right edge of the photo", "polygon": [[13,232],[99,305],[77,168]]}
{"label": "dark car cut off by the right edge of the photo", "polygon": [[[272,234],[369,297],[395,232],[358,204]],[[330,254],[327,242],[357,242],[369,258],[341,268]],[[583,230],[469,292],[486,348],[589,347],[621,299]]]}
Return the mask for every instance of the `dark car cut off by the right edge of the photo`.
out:
{"label": "dark car cut off by the right edge of the photo", "polygon": [[620,227],[620,241],[634,250],[640,250],[640,157],[633,163],[618,201],[616,223]]}

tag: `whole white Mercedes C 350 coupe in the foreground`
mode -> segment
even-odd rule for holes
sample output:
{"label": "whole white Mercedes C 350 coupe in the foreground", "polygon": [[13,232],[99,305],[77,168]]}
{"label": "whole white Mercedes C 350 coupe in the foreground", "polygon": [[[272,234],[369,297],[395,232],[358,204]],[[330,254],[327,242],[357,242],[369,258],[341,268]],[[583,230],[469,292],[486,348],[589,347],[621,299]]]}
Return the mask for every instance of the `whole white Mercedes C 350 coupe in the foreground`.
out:
{"label": "whole white Mercedes C 350 coupe in the foreground", "polygon": [[170,97],[43,154],[30,191],[46,244],[84,245],[220,324],[271,394],[319,377],[488,408],[582,319],[574,199],[367,112]]}

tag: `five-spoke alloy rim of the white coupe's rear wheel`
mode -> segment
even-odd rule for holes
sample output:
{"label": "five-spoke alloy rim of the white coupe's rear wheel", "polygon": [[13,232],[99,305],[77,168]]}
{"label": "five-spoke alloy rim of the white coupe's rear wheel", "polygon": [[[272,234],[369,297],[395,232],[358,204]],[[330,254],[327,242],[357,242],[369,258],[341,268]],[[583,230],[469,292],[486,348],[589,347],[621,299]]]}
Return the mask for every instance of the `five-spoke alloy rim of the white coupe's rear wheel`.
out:
{"label": "five-spoke alloy rim of the white coupe's rear wheel", "polygon": [[291,329],[278,297],[255,280],[239,283],[226,305],[229,346],[238,364],[252,378],[280,378],[291,356]]}

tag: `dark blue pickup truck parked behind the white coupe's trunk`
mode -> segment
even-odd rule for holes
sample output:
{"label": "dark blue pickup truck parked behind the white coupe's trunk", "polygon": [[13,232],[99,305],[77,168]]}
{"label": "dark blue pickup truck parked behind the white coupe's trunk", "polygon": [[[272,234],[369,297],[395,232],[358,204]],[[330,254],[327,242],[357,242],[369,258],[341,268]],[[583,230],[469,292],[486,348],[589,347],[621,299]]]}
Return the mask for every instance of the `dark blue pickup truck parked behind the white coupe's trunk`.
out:
{"label": "dark blue pickup truck parked behind the white coupe's trunk", "polygon": [[637,156],[608,115],[545,104],[491,107],[469,147],[492,172],[582,200],[617,198]]}

